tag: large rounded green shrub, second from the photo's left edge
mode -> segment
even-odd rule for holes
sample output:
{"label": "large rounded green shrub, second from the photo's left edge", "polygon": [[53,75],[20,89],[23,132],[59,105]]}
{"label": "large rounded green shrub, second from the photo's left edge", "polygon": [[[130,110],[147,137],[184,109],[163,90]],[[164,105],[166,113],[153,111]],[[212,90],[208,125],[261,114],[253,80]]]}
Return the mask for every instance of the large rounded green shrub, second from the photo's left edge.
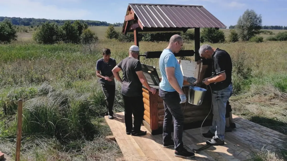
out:
{"label": "large rounded green shrub, second from the photo's left edge", "polygon": [[61,40],[60,36],[59,26],[46,22],[34,33],[33,40],[38,44],[55,44]]}

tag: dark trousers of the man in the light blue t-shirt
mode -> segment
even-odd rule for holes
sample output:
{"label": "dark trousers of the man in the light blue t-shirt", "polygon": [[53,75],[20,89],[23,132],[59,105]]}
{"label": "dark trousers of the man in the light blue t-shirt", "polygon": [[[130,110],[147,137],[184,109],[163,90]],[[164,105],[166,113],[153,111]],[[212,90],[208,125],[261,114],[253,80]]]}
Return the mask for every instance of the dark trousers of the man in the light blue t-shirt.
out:
{"label": "dark trousers of the man in the light blue t-shirt", "polygon": [[174,150],[180,151],[183,148],[182,135],[183,135],[183,111],[180,105],[179,94],[175,92],[166,92],[159,89],[159,96],[163,100],[164,104],[164,121],[163,121],[163,143],[170,141],[171,139],[171,123],[173,120],[174,128]]}

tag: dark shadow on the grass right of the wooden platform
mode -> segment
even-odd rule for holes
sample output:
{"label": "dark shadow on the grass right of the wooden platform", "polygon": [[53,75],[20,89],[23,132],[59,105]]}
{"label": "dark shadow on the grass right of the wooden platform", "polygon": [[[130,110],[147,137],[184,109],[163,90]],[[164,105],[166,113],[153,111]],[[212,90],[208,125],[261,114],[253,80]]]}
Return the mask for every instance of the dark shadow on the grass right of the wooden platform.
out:
{"label": "dark shadow on the grass right of the wooden platform", "polygon": [[275,131],[278,131],[280,133],[287,135],[287,123],[280,121],[276,118],[270,119],[266,117],[252,116],[249,120],[259,125],[262,125],[264,127],[267,127],[269,129],[272,129],[272,130],[275,130]]}

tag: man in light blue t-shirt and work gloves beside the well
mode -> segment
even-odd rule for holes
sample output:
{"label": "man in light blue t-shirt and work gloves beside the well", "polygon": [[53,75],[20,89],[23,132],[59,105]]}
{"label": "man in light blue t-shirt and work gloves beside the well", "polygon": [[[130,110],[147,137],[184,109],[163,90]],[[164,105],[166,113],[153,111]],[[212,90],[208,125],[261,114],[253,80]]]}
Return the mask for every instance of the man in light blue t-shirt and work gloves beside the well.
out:
{"label": "man in light blue t-shirt and work gloves beside the well", "polygon": [[[194,157],[194,153],[187,151],[183,147],[183,111],[180,103],[186,102],[185,93],[182,90],[183,81],[193,84],[194,77],[185,77],[181,72],[179,62],[174,53],[178,53],[183,46],[183,39],[180,35],[173,35],[168,47],[162,51],[159,60],[160,82],[159,96],[164,102],[164,123],[163,123],[163,147],[174,146],[174,155],[182,158]],[[170,124],[174,120],[174,140],[171,138]]]}

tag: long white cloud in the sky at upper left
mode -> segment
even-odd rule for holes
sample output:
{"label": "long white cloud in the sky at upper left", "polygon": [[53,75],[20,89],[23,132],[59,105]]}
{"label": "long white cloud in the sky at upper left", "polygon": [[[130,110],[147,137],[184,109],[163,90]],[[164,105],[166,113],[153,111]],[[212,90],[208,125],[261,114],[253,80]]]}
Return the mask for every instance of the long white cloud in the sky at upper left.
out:
{"label": "long white cloud in the sky at upper left", "polygon": [[[59,0],[78,1],[78,0]],[[46,18],[46,19],[82,19],[90,12],[85,9],[59,8],[56,5],[44,5],[32,0],[0,0],[0,15],[21,18]]]}

